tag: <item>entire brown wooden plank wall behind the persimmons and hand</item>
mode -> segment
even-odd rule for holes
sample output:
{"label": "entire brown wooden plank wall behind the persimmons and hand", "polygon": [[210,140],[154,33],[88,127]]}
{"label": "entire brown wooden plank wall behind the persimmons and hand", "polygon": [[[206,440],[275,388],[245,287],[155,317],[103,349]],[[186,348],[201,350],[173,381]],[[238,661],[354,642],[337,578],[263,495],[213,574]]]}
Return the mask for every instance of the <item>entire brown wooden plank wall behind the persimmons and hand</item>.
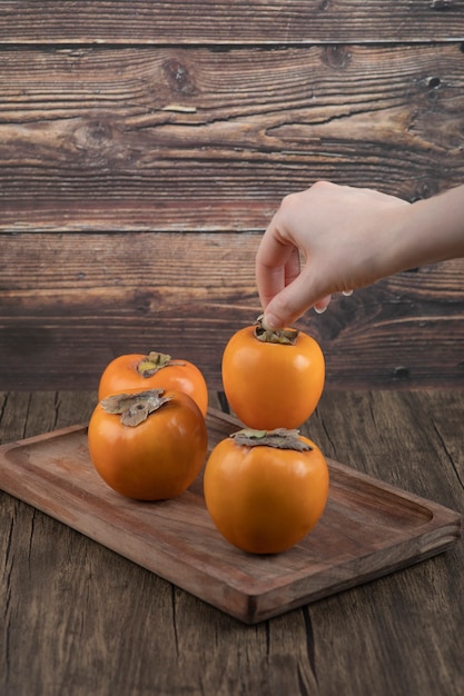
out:
{"label": "entire brown wooden plank wall behind the persimmons and hand", "polygon": [[[2,1],[0,389],[91,389],[150,349],[220,388],[286,193],[428,197],[463,148],[462,1]],[[463,272],[308,314],[327,388],[463,386]]]}

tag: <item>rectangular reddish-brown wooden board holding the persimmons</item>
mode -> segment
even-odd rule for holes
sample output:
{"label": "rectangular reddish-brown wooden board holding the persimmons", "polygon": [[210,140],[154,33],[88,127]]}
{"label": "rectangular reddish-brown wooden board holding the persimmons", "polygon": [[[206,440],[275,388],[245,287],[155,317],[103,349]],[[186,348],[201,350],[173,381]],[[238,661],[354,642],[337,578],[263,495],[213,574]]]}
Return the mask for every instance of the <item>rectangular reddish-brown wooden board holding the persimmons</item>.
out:
{"label": "rectangular reddish-brown wooden board holding the persimmons", "polygon": [[[238,429],[210,409],[209,449]],[[87,427],[0,447],[0,488],[247,624],[445,550],[461,517],[328,460],[330,493],[315,529],[277,556],[251,556],[214,527],[201,477],[175,500],[127,500],[99,478]]]}

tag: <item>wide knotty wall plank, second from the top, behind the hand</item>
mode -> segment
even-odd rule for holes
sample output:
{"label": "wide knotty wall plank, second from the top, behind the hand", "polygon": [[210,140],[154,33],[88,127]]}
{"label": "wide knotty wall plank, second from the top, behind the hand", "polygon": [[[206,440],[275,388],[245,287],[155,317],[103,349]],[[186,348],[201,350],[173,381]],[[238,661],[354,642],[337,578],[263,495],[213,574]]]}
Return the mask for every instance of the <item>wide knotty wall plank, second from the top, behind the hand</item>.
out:
{"label": "wide knotty wall plank, second from the top, behind the hand", "polygon": [[263,230],[317,179],[464,179],[458,43],[0,52],[0,230]]}

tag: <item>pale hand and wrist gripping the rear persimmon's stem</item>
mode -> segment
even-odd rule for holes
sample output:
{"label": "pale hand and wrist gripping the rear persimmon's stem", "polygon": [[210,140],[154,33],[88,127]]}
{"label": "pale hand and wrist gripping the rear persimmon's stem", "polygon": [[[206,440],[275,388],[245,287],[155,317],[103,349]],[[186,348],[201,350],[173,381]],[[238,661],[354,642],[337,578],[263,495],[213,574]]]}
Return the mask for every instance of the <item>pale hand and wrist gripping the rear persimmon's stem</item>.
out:
{"label": "pale hand and wrist gripping the rear persimmon's stem", "polygon": [[[464,186],[408,203],[318,181],[284,198],[256,255],[266,328],[289,326],[335,292],[464,257]],[[302,264],[303,259],[303,264]]]}

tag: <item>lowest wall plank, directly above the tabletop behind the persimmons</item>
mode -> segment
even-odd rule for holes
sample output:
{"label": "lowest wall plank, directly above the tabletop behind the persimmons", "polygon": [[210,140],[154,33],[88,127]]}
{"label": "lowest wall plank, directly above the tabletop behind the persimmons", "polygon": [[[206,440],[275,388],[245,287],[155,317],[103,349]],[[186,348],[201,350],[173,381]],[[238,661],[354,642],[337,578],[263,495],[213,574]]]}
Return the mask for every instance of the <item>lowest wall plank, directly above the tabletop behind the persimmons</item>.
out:
{"label": "lowest wall plank, directly above the tabletop behind the persimmons", "polygon": [[[191,360],[211,389],[231,334],[260,312],[259,235],[0,237],[3,389],[97,389],[118,355]],[[20,272],[19,270],[20,269]],[[326,357],[326,388],[463,385],[464,261],[398,274],[299,327]]]}

